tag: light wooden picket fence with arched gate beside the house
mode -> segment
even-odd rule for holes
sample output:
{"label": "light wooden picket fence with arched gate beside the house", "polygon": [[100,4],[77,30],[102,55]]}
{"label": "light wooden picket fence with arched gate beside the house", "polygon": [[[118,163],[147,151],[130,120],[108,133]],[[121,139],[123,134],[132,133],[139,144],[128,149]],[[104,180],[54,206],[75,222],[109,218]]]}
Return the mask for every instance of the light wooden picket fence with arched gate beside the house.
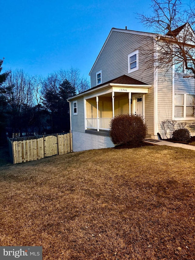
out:
{"label": "light wooden picket fence with arched gate beside the house", "polygon": [[[29,139],[30,138],[30,139]],[[73,151],[72,133],[8,139],[12,162],[29,162]]]}

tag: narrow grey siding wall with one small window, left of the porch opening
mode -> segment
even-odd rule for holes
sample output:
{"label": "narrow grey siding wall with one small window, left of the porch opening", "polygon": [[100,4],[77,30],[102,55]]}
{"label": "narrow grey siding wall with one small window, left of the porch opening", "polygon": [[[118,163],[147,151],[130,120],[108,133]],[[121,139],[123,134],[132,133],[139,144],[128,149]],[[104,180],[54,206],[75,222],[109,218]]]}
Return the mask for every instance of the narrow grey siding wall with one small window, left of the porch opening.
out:
{"label": "narrow grey siding wall with one small window, left of the porch opening", "polygon": [[[73,102],[77,101],[77,115],[73,115]],[[83,97],[71,100],[72,131],[85,132],[84,100]]]}

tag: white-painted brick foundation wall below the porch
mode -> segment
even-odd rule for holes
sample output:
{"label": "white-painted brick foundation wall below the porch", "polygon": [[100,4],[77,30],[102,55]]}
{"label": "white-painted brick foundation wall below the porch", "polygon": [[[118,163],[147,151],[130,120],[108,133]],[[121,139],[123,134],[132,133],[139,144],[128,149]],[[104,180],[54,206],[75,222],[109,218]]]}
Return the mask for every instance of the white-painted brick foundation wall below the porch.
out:
{"label": "white-painted brick foundation wall below the porch", "polygon": [[85,151],[114,147],[109,136],[87,134],[73,131],[73,151]]}

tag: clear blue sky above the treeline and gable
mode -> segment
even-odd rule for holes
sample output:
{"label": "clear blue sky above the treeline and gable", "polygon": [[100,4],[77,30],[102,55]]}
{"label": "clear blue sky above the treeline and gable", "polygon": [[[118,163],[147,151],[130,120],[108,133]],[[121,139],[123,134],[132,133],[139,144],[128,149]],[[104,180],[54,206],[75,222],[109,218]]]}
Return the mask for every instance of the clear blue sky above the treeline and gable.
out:
{"label": "clear blue sky above the treeline and gable", "polygon": [[3,71],[42,75],[59,69],[89,72],[112,27],[148,31],[136,12],[151,1],[1,0],[0,59]]}

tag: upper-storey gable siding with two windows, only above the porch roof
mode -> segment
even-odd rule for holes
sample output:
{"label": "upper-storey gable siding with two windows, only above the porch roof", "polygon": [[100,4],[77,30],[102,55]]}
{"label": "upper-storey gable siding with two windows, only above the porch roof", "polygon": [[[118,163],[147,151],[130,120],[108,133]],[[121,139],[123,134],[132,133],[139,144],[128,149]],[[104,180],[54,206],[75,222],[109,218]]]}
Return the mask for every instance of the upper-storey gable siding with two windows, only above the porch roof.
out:
{"label": "upper-storey gable siding with two windows, only above the porch roof", "polygon": [[[99,70],[102,70],[102,83],[124,74],[148,84],[153,83],[153,66],[148,63],[146,66],[146,59],[141,54],[144,43],[145,36],[113,31],[91,72],[91,87],[96,86],[96,72]],[[135,50],[140,51],[139,69],[128,73],[128,54]]]}

